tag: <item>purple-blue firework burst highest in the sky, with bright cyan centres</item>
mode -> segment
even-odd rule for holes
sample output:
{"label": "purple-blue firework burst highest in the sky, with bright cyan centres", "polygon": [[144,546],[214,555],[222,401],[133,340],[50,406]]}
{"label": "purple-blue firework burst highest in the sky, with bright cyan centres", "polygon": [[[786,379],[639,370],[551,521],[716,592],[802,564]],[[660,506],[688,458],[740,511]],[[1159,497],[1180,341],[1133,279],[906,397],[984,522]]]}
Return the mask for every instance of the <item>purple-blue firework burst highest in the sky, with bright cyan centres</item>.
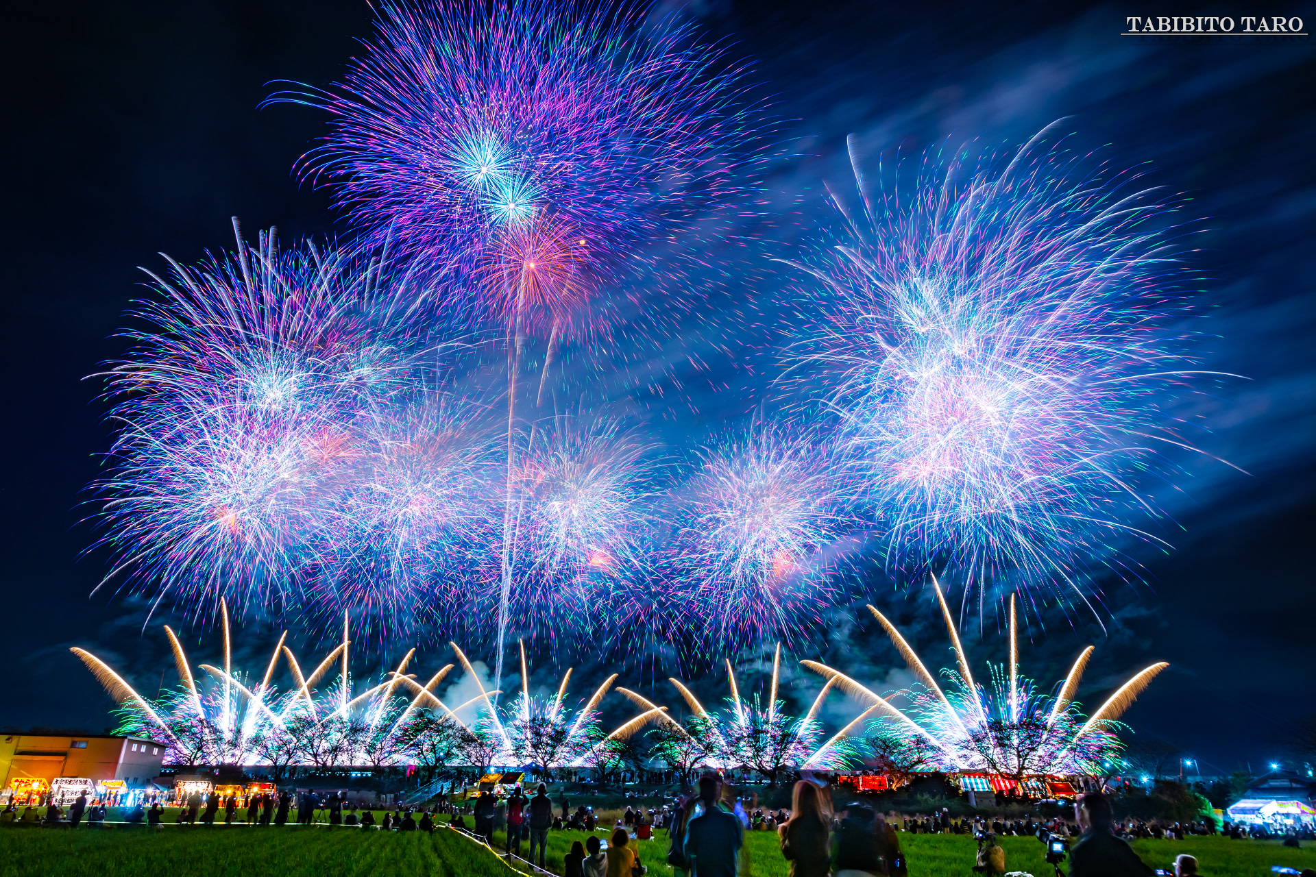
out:
{"label": "purple-blue firework burst highest in the sky, with bright cyan centres", "polygon": [[[326,92],[290,92],[333,113],[304,167],[338,187],[371,243],[393,241],[455,279],[447,305],[503,317],[459,279],[529,224],[587,242],[597,281],[744,191],[761,122],[741,70],[647,4],[476,0],[380,7],[368,51]],[[519,314],[520,316],[520,314]],[[599,327],[578,314],[561,331]]]}

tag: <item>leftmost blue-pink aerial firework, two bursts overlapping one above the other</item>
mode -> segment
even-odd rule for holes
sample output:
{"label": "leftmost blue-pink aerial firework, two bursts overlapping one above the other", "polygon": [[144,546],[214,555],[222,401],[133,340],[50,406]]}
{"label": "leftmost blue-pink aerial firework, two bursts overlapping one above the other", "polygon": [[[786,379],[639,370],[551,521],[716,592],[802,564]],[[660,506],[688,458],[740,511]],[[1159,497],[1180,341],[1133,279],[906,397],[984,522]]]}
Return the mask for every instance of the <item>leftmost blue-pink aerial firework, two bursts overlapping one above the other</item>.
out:
{"label": "leftmost blue-pink aerial firework, two bursts overlapping one above the other", "polygon": [[149,327],[105,375],[121,423],[93,485],[109,577],[197,613],[218,597],[282,611],[333,538],[359,422],[411,392],[417,351],[397,341],[379,264],[280,252],[266,234],[171,264],[136,314]]}

